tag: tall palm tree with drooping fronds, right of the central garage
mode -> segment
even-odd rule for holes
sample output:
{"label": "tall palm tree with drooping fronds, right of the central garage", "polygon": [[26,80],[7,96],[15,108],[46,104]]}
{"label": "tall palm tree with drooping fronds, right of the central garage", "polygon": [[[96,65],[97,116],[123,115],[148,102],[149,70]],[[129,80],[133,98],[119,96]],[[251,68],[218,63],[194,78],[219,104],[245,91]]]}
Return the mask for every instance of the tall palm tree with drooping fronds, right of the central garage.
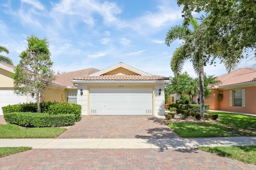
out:
{"label": "tall palm tree with drooping fronds, right of the central garage", "polygon": [[183,45],[177,48],[174,51],[171,59],[171,69],[174,75],[180,75],[180,72],[183,68],[183,65],[186,60],[190,59],[192,62],[193,68],[195,72],[199,75],[199,88],[200,88],[200,114],[204,116],[204,65],[203,61],[203,52],[202,49],[199,49],[194,42],[193,33],[199,27],[198,21],[196,18],[190,19],[190,25],[192,29],[188,28],[185,25],[176,25],[171,27],[167,32],[165,43],[167,46],[176,40],[182,39],[184,40]]}

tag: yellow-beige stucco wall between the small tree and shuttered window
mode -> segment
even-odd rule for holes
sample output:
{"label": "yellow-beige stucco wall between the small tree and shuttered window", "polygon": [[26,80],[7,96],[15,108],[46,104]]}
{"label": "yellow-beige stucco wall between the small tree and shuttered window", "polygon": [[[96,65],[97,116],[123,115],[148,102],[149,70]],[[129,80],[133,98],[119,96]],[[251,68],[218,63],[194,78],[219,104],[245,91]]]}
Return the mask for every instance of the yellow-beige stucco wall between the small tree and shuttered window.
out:
{"label": "yellow-beige stucco wall between the small tree and shuttered window", "polygon": [[42,92],[42,101],[66,102],[66,90],[53,87],[46,88],[46,90]]}

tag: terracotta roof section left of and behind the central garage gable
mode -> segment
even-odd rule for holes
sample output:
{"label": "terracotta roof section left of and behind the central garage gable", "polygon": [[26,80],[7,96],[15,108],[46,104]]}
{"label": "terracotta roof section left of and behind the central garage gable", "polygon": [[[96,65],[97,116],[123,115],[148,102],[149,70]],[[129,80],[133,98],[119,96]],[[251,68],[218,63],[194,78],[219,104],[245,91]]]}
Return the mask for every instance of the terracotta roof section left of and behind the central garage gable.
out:
{"label": "terracotta roof section left of and behind the central garage gable", "polygon": [[74,84],[70,81],[73,80],[74,77],[78,76],[86,76],[93,74],[95,72],[98,72],[100,70],[96,68],[88,68],[84,70],[77,70],[77,71],[72,71],[72,72],[65,72],[62,74],[56,74],[56,80],[54,81],[54,84],[58,84],[61,86],[67,86],[67,87],[75,87]]}

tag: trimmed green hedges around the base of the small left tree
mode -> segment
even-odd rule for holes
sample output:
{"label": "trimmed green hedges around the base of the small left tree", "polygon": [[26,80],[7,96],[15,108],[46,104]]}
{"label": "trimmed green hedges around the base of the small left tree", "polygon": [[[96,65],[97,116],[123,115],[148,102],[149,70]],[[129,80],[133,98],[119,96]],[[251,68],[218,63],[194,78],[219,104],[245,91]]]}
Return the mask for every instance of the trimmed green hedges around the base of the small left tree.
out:
{"label": "trimmed green hedges around the base of the small left tree", "polygon": [[37,113],[36,103],[8,105],[2,110],[6,122],[24,127],[73,125],[82,112],[82,106],[72,103],[42,102],[40,107],[42,113]]}

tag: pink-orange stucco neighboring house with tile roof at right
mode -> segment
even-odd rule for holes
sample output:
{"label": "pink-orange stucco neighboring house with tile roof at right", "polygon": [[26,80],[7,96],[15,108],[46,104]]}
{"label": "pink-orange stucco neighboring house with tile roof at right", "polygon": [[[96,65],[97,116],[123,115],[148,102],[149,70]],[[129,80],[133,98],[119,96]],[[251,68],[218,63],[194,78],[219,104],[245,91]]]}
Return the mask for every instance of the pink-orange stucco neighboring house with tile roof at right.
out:
{"label": "pink-orange stucco neighboring house with tile roof at right", "polygon": [[256,69],[240,68],[217,78],[222,84],[211,88],[214,93],[204,100],[210,109],[256,114]]}

